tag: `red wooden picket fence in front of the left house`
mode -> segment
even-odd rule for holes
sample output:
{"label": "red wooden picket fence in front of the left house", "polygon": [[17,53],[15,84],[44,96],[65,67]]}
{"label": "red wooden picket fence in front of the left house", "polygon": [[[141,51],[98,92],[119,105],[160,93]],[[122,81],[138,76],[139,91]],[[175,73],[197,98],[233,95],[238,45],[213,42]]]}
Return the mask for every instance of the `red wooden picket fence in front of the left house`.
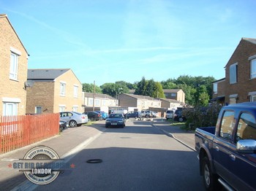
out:
{"label": "red wooden picket fence in front of the left house", "polygon": [[0,117],[0,154],[59,133],[59,114]]}

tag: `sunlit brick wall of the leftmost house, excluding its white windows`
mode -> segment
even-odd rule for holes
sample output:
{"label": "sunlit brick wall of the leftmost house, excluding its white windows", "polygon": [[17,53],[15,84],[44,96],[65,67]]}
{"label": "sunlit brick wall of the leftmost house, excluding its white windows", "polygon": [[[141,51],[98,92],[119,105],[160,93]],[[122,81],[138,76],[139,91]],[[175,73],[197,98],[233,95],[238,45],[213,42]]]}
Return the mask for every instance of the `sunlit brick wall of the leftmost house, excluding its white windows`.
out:
{"label": "sunlit brick wall of the leftmost house, excluding its white windows", "polygon": [[[0,115],[3,114],[3,98],[19,98],[18,114],[26,113],[26,90],[24,82],[27,79],[28,55],[7,17],[0,15]],[[10,48],[18,50],[18,80],[11,80],[10,75]]]}

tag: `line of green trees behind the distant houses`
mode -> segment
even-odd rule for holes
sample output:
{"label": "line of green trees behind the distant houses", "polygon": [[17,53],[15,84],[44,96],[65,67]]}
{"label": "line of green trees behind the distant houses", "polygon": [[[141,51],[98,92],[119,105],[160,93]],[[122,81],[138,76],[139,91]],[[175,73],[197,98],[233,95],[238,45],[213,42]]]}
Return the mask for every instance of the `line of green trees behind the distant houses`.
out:
{"label": "line of green trees behind the distant houses", "polygon": [[83,91],[88,93],[104,93],[116,98],[118,93],[129,93],[135,90],[136,95],[146,95],[152,98],[165,98],[164,89],[181,89],[185,93],[186,104],[192,106],[207,106],[212,96],[212,82],[214,77],[191,77],[182,75],[177,79],[167,79],[162,82],[155,82],[154,79],[142,77],[140,82],[105,83],[101,86],[93,83],[83,83]]}

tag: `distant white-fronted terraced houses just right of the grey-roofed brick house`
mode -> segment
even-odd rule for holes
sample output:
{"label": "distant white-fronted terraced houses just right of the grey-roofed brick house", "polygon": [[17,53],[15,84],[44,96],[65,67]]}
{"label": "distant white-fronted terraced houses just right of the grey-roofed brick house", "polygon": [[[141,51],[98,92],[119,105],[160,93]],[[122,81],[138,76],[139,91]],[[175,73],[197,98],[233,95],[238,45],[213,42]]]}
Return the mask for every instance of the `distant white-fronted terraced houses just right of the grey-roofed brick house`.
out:
{"label": "distant white-fronted terraced houses just right of the grey-roofed brick house", "polygon": [[110,107],[118,105],[116,98],[102,93],[83,93],[85,112],[103,111],[108,113]]}

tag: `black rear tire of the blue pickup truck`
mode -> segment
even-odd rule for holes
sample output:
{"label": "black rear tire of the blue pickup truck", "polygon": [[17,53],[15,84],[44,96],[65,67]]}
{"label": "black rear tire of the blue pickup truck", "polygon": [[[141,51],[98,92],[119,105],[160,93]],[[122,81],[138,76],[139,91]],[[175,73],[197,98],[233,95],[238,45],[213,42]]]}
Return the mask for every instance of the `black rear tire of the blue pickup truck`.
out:
{"label": "black rear tire of the blue pickup truck", "polygon": [[217,190],[219,187],[218,179],[216,174],[212,174],[210,161],[208,157],[204,157],[202,161],[203,170],[203,184],[206,190]]}

